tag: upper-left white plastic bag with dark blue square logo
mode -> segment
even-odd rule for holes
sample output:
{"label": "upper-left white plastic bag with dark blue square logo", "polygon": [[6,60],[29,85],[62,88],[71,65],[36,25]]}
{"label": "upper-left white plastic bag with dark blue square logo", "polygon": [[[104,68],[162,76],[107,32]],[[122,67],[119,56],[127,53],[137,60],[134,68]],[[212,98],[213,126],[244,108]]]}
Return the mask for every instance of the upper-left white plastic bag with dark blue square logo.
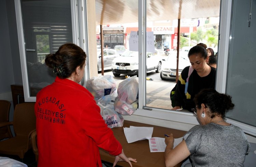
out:
{"label": "upper-left white plastic bag with dark blue square logo", "polygon": [[96,100],[103,96],[117,93],[116,81],[111,75],[103,75],[100,77],[93,77],[86,82],[86,88],[93,94]]}

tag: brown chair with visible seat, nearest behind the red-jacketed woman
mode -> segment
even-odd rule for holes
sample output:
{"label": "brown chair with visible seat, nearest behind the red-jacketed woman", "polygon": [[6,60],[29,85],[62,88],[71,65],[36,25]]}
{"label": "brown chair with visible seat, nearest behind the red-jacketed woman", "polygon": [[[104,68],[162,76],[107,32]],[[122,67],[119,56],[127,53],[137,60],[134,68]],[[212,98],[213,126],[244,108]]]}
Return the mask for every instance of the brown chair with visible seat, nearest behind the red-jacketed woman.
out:
{"label": "brown chair with visible seat, nearest behind the red-jacketed woman", "polygon": [[0,153],[18,155],[23,159],[31,148],[30,136],[35,131],[35,120],[34,103],[17,104],[13,121],[1,124],[13,125],[15,136],[0,142]]}

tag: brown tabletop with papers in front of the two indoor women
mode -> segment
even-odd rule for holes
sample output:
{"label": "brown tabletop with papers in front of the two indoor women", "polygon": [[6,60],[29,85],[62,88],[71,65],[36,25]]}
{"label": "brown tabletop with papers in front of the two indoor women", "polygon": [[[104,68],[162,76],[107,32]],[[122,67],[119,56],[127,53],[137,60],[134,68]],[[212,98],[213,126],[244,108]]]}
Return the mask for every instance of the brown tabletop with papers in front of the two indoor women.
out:
{"label": "brown tabletop with papers in front of the two indoor women", "polygon": [[[116,139],[121,143],[124,149],[124,153],[127,157],[132,157],[137,159],[137,163],[132,162],[133,167],[165,167],[165,162],[163,159],[163,152],[150,152],[150,147],[148,140],[140,140],[133,143],[128,143],[124,134],[124,127],[130,126],[145,126],[145,127],[154,127],[152,137],[162,137],[164,134],[173,134],[174,138],[182,137],[186,131],[175,130],[167,127],[154,126],[139,122],[124,121],[123,127],[112,128]],[[114,156],[109,155],[108,152],[100,149],[101,160],[113,163],[115,160]],[[117,165],[123,167],[129,167],[129,164],[126,162],[118,162]],[[182,162],[176,167],[180,167]]]}

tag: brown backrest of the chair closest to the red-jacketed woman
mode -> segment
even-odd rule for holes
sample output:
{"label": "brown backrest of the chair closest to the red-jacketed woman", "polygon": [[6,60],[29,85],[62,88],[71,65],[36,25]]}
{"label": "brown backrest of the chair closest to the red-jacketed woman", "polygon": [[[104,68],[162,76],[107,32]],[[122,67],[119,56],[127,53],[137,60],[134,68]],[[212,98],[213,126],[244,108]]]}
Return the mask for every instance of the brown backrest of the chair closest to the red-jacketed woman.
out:
{"label": "brown backrest of the chair closest to the red-jacketed woman", "polygon": [[28,136],[35,129],[35,103],[21,103],[15,106],[13,128],[16,135]]}

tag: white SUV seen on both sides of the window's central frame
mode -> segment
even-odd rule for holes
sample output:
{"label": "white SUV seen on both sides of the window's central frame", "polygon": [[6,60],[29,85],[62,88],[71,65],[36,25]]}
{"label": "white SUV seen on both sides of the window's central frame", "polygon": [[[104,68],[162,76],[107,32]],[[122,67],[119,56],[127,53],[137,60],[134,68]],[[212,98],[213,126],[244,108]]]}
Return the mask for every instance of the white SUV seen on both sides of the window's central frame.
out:
{"label": "white SUV seen on both sides of the window's central frame", "polygon": [[[161,57],[154,53],[146,53],[146,66],[147,72],[155,70],[156,73],[161,72]],[[112,72],[114,76],[125,75],[138,75],[139,71],[139,56],[138,51],[126,50],[122,55],[115,58],[112,62]]]}

